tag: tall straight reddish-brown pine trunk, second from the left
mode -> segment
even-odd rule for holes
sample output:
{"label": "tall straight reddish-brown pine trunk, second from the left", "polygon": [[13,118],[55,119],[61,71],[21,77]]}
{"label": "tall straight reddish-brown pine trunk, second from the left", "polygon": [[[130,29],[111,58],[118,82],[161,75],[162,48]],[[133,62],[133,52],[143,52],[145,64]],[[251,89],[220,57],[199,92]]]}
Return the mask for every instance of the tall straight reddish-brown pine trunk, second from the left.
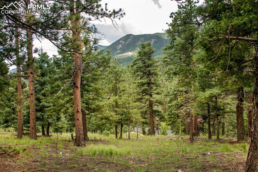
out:
{"label": "tall straight reddish-brown pine trunk, second from the left", "polygon": [[[30,0],[25,0],[25,7],[28,10]],[[29,10],[30,11],[30,10]],[[30,12],[26,14],[26,22],[30,20]],[[37,140],[36,131],[36,107],[35,107],[35,76],[33,65],[33,44],[32,44],[32,32],[31,29],[26,29],[27,34],[27,56],[28,56],[28,75],[29,75],[29,113],[30,113],[30,139]]]}

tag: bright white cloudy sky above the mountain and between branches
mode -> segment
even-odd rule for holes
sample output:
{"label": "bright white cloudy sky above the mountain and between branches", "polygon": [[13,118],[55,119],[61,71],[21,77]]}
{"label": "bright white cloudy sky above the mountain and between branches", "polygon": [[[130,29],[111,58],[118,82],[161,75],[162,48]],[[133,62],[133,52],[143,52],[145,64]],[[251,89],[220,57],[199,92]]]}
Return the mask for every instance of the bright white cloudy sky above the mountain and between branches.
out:
{"label": "bright white cloudy sky above the mountain and between branches", "polygon": [[[127,35],[161,33],[168,28],[167,22],[170,23],[169,15],[175,12],[177,2],[171,0],[102,0],[101,4],[108,3],[108,9],[122,8],[126,15],[117,21],[116,28],[110,20],[93,21],[93,24],[105,36],[99,42],[100,45],[110,45],[119,38]],[[50,57],[57,54],[57,48],[50,41],[43,39],[41,42],[37,39],[33,41],[34,48],[43,47],[43,50]],[[35,56],[37,56],[35,54]],[[11,67],[15,68],[14,66]]]}

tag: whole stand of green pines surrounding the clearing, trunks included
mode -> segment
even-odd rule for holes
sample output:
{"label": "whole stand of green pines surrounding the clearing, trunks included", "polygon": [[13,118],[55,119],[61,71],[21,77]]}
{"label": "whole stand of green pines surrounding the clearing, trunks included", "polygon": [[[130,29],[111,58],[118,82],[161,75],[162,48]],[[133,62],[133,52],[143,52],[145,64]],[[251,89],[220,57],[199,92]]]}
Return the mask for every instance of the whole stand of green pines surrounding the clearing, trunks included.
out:
{"label": "whole stand of green pines surrounding the clearing, trunks included", "polygon": [[[30,139],[75,132],[82,147],[88,132],[127,132],[130,139],[134,128],[143,135],[171,130],[190,142],[200,135],[250,138],[245,170],[258,171],[258,1],[175,1],[169,41],[126,35],[110,50],[99,49],[91,22],[115,24],[122,9],[100,0],[17,1],[25,10],[49,4],[50,13],[0,14],[0,127],[19,138],[28,130]],[[58,55],[33,47],[36,37],[50,40]],[[126,37],[132,47],[119,50]],[[116,55],[130,51],[120,65]],[[9,73],[12,65],[17,72]]]}

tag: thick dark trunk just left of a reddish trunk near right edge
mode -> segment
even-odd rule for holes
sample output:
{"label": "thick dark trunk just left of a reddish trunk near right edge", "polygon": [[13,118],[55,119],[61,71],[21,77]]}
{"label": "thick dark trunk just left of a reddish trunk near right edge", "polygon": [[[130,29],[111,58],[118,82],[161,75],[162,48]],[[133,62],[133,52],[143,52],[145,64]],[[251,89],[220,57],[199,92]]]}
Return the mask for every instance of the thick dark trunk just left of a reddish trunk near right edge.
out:
{"label": "thick dark trunk just left of a reddish trunk near right edge", "polygon": [[244,88],[239,87],[237,91],[237,107],[236,107],[236,114],[237,114],[237,140],[243,141],[246,140],[245,134],[245,125],[244,125]]}

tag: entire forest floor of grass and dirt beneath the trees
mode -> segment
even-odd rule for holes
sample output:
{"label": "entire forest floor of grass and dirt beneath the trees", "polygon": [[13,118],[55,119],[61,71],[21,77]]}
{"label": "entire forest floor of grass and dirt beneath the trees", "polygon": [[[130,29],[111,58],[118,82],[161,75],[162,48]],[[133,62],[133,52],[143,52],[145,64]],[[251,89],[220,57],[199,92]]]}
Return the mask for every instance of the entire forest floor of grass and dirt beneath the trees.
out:
{"label": "entire forest floor of grass and dirt beneath the trees", "polygon": [[131,136],[115,139],[88,133],[86,147],[69,133],[15,138],[0,130],[0,171],[244,171],[249,142],[233,138],[190,143],[188,136]]}

